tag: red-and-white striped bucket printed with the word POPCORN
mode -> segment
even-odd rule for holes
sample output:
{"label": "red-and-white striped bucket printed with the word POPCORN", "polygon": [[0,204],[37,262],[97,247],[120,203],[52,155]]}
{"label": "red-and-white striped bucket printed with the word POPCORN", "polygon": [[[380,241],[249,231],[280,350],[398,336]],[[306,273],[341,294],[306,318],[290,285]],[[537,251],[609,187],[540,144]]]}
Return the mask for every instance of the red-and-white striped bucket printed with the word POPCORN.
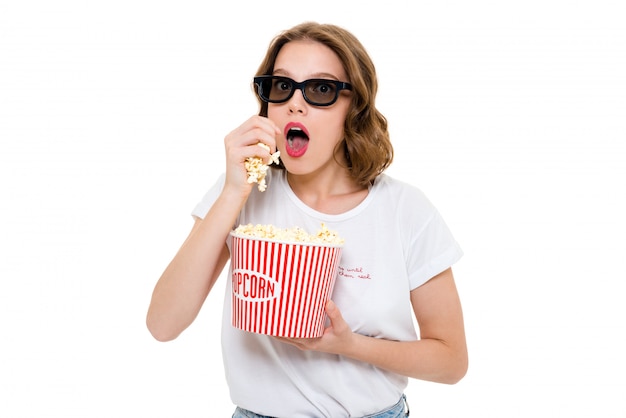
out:
{"label": "red-and-white striped bucket printed with the word POPCORN", "polygon": [[342,246],[231,237],[233,326],[278,337],[321,337]]}

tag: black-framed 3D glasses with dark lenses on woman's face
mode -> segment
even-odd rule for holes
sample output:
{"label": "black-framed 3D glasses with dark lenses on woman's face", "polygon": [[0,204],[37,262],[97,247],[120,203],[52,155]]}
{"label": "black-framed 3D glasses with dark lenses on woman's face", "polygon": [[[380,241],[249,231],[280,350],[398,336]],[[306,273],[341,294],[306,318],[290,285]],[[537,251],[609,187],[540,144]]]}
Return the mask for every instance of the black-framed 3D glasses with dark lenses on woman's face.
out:
{"label": "black-framed 3D glasses with dark lenses on woman's face", "polygon": [[257,94],[264,102],[284,103],[298,89],[302,91],[304,100],[314,106],[330,106],[337,101],[341,90],[352,90],[349,83],[321,78],[298,83],[288,77],[264,75],[254,77],[254,84]]}

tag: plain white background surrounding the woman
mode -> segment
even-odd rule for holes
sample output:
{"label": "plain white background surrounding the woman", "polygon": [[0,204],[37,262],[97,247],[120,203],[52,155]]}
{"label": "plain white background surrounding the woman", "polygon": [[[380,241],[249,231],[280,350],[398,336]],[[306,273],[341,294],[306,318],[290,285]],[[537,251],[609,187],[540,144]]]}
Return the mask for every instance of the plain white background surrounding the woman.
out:
{"label": "plain white background surrounding the woman", "polygon": [[317,20],[465,250],[470,369],[413,414],[626,417],[621,2],[222,3],[0,2],[0,416],[230,416],[223,286],[173,342],[145,312],[270,39]]}

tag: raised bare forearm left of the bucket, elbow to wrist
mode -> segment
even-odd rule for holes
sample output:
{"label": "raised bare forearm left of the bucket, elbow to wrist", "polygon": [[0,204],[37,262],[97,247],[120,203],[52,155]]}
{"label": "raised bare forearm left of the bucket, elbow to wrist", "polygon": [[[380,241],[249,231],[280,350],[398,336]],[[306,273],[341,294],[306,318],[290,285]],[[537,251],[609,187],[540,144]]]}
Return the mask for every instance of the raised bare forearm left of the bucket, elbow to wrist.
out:
{"label": "raised bare forearm left of the bucket, elbow to wrist", "polygon": [[240,197],[223,192],[163,272],[146,319],[157,340],[176,338],[197,316],[228,260],[225,243],[242,204]]}

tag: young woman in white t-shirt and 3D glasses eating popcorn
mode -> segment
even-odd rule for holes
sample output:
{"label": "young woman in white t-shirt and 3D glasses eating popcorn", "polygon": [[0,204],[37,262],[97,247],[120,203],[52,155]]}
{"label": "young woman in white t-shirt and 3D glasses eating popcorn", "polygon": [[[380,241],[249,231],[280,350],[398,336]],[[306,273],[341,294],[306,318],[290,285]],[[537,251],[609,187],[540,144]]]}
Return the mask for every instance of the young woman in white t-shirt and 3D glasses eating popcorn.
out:
{"label": "young woman in white t-shirt and 3D glasses eating popcorn", "polygon": [[[222,350],[233,416],[407,416],[409,377],[453,384],[466,373],[451,270],[462,252],[418,189],[383,174],[393,149],[374,105],[375,68],[351,33],[316,23],[283,32],[254,85],[259,115],[226,136],[226,171],[193,210],[195,224],[156,284],[148,328],[168,341],[193,322],[229,260],[235,226],[313,232],[325,223],[345,245],[321,338],[234,328],[226,286]],[[244,161],[269,162],[275,150],[281,164],[261,192],[246,181]]]}

